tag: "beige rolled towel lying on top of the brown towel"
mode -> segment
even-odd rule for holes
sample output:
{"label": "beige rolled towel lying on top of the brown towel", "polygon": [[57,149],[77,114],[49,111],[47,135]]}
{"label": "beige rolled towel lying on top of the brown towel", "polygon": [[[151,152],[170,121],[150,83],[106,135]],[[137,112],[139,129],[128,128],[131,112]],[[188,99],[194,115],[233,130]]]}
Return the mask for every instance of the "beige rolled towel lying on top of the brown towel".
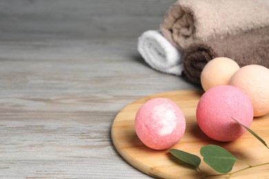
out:
{"label": "beige rolled towel lying on top of the brown towel", "polygon": [[178,49],[269,25],[268,0],[179,0],[161,23]]}

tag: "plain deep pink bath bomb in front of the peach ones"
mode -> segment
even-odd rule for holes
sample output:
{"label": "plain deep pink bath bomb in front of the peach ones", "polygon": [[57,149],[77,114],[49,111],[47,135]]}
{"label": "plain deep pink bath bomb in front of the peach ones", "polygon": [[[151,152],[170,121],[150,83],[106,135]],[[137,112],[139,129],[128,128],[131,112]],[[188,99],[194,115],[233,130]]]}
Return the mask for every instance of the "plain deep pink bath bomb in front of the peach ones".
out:
{"label": "plain deep pink bath bomb in front of the peach ones", "polygon": [[208,89],[197,105],[197,123],[210,138],[221,142],[236,140],[253,120],[253,107],[248,96],[239,88],[219,85]]}

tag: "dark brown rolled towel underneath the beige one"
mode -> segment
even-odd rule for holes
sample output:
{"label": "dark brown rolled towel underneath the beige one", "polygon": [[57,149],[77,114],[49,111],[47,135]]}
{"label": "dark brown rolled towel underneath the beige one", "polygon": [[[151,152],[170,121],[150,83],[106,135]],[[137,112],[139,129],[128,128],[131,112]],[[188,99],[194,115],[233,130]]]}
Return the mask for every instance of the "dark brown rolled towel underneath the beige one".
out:
{"label": "dark brown rolled towel underneath the beige one", "polygon": [[269,68],[269,26],[192,45],[183,55],[184,73],[190,81],[201,83],[203,67],[219,56],[233,59],[240,67],[257,64]]}

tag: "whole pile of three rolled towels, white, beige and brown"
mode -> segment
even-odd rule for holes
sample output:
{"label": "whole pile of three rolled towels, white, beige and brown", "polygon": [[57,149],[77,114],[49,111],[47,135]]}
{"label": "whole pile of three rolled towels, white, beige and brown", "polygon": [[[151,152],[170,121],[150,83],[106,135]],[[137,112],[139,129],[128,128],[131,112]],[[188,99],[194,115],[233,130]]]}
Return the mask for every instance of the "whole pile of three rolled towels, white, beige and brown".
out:
{"label": "whole pile of three rolled towels, white, beige and brown", "polygon": [[269,0],[179,0],[160,30],[144,32],[138,44],[155,70],[200,83],[203,67],[217,56],[269,67]]}

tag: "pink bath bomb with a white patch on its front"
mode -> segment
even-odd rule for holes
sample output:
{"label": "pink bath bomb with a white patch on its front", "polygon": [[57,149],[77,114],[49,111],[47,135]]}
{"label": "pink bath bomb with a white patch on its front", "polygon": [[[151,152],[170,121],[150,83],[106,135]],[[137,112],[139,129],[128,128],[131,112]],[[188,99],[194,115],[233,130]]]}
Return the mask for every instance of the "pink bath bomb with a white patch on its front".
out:
{"label": "pink bath bomb with a white patch on its front", "polygon": [[135,116],[135,131],[151,149],[168,149],[183,137],[186,120],[181,109],[168,98],[153,98]]}

